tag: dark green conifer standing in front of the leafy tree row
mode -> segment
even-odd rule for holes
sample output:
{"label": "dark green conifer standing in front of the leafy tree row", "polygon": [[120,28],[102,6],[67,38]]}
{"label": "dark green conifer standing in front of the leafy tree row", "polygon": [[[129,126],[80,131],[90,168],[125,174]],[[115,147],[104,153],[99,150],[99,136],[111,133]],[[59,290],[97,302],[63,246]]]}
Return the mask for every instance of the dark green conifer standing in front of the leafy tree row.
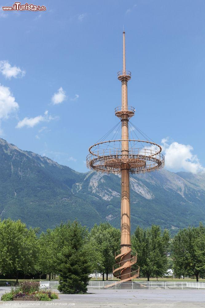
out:
{"label": "dark green conifer standing in front of the leafy tree row", "polygon": [[[86,250],[88,230],[77,221],[67,223],[67,240],[59,258],[59,291],[66,294],[85,293],[89,275],[93,271],[92,260]],[[93,248],[94,249],[94,248]]]}

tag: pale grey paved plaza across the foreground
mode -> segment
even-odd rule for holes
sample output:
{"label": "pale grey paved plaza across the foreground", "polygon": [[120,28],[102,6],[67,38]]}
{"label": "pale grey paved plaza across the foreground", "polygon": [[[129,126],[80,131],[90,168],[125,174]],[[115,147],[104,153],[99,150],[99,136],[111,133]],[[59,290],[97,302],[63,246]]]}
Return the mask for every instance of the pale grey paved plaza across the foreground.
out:
{"label": "pale grey paved plaza across the foreground", "polygon": [[[0,295],[9,291],[0,288]],[[0,302],[0,307],[76,307],[76,308],[205,308],[205,290],[89,290],[87,294],[59,294],[51,302]]]}

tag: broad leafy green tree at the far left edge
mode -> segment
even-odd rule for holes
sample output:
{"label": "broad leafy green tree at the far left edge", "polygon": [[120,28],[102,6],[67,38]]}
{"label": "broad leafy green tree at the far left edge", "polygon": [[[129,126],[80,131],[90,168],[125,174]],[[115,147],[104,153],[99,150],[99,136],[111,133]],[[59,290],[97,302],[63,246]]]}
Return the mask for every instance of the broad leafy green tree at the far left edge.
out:
{"label": "broad leafy green tree at the far left edge", "polygon": [[18,283],[20,272],[34,273],[36,261],[36,230],[27,229],[20,220],[0,221],[0,272],[14,274]]}

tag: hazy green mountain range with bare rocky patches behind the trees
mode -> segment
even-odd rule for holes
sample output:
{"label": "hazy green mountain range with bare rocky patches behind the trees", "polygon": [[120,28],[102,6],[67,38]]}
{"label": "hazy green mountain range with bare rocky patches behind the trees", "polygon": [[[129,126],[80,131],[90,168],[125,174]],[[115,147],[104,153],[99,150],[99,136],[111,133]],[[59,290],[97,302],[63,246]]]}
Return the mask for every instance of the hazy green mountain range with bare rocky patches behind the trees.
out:
{"label": "hazy green mountain range with bare rocky patches behind the trees", "polygon": [[[130,179],[132,232],[159,224],[171,233],[205,223],[205,175],[156,172]],[[77,218],[120,227],[120,176],[79,173],[0,138],[0,216],[41,230]]]}

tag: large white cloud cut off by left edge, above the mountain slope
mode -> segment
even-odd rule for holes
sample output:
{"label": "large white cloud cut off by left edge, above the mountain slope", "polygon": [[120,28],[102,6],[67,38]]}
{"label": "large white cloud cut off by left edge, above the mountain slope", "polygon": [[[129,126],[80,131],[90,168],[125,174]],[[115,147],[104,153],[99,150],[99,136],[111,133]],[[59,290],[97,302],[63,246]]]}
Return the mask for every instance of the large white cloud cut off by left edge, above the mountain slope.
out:
{"label": "large white cloud cut off by left edge, above the mountain slope", "polygon": [[0,119],[7,119],[10,113],[18,110],[18,103],[10,89],[0,84]]}

